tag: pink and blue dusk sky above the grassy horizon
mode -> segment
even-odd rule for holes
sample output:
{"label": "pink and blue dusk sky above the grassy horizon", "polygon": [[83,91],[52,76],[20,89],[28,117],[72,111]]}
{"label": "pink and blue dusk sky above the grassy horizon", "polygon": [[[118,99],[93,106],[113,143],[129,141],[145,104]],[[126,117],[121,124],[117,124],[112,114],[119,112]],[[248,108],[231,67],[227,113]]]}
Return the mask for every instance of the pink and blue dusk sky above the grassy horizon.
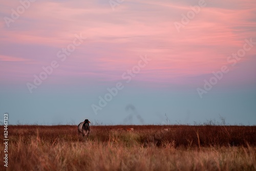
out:
{"label": "pink and blue dusk sky above the grassy horizon", "polygon": [[256,2],[0,2],[9,124],[256,124]]}

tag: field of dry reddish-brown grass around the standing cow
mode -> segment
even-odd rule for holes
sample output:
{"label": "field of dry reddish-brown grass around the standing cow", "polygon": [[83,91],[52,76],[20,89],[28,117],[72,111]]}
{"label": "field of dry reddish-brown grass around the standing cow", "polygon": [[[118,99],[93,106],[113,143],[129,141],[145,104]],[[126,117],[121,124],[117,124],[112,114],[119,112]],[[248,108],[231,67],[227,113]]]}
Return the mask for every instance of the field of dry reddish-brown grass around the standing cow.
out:
{"label": "field of dry reddish-brown grass around the standing cow", "polygon": [[75,125],[9,125],[8,133],[0,170],[256,170],[256,126],[91,126],[89,140]]}

